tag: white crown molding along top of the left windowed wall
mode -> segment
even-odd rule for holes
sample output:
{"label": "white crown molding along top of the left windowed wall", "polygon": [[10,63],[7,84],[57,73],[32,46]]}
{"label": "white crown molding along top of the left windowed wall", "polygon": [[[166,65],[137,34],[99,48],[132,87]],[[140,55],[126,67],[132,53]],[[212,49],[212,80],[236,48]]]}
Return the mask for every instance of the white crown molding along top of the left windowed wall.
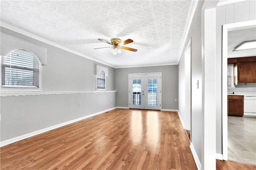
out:
{"label": "white crown molding along top of the left windowed wall", "polygon": [[95,61],[95,62],[97,62],[97,63],[101,63],[101,64],[104,64],[104,65],[106,65],[106,66],[110,66],[110,67],[115,68],[115,67],[112,66],[111,64],[104,63],[104,62],[102,62],[102,61],[99,61],[99,60],[97,60],[97,59],[94,59],[94,58],[92,58],[92,57],[89,57],[89,56],[87,56],[87,55],[84,55],[84,54],[79,53],[79,52],[77,52],[77,51],[74,51],[74,50],[72,50],[72,49],[66,48],[66,47],[64,47],[64,46],[62,46],[62,45],[59,45],[59,44],[57,44],[57,43],[54,43],[54,42],[52,42],[52,41],[49,41],[49,40],[44,39],[44,38],[42,38],[42,37],[39,37],[38,35],[34,35],[34,34],[28,32],[28,31],[24,31],[23,29],[17,28],[17,27],[15,27],[15,26],[10,25],[10,24],[8,24],[8,23],[5,23],[5,22],[3,22],[3,21],[0,22],[0,26],[1,26],[1,27],[4,27],[4,28],[6,28],[6,29],[10,29],[11,31],[14,31],[14,32],[16,32],[16,33],[20,33],[20,34],[22,34],[22,35],[26,35],[27,37],[36,39],[36,40],[41,41],[41,42],[43,42],[43,43],[52,45],[52,46],[57,47],[57,48],[59,48],[59,49],[63,49],[63,50],[68,51],[68,52],[70,52],[70,53],[79,55],[79,56],[84,57],[84,58],[86,58],[86,59],[89,59],[89,60]]}

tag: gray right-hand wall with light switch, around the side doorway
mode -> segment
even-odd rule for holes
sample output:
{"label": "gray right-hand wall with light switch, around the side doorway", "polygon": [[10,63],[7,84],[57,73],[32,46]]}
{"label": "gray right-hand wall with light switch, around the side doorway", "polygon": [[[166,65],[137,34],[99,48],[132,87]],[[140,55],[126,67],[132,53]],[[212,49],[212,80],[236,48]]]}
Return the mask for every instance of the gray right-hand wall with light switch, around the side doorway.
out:
{"label": "gray right-hand wall with light switch, around the side doorway", "polygon": [[[185,102],[185,59],[184,53],[191,38],[191,82],[192,82],[192,108],[191,108],[191,141],[196,154],[202,164],[202,37],[201,37],[201,9],[204,1],[198,2],[197,10],[188,31],[182,55],[179,61],[179,97]],[[196,81],[199,82],[199,88],[196,88]],[[184,120],[185,103],[179,104],[182,119]]]}

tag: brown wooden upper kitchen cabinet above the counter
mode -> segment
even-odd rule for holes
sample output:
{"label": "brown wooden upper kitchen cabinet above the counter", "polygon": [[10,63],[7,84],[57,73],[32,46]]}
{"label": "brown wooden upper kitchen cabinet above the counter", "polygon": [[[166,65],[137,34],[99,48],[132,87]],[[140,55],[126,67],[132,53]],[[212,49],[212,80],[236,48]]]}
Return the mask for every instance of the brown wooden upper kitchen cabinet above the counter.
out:
{"label": "brown wooden upper kitchen cabinet above the counter", "polygon": [[228,64],[237,64],[238,83],[256,82],[256,56],[229,58]]}

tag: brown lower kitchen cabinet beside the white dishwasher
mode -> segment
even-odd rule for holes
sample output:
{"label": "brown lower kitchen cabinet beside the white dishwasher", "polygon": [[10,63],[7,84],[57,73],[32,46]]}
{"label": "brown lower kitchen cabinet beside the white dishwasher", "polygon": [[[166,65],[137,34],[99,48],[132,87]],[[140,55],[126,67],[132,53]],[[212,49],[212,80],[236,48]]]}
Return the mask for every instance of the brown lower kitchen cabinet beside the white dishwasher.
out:
{"label": "brown lower kitchen cabinet beside the white dishwasher", "polygon": [[228,95],[228,116],[244,115],[244,96]]}

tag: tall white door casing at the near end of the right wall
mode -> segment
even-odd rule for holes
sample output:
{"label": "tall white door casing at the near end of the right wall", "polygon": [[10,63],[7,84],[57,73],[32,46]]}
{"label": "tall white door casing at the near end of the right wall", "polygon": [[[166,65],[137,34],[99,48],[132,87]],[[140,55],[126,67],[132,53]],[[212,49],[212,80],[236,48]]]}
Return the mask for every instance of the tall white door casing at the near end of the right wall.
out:
{"label": "tall white door casing at the near end of the right wall", "polygon": [[[201,168],[216,167],[216,5],[204,1],[202,29],[202,148]],[[192,142],[193,143],[193,142]]]}

